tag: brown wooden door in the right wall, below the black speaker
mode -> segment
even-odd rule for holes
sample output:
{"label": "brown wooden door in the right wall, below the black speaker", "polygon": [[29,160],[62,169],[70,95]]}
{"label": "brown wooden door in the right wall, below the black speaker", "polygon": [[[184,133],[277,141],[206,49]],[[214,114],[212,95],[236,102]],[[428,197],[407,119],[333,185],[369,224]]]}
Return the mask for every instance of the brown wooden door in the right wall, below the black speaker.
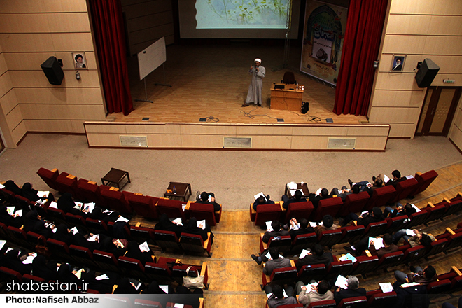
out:
{"label": "brown wooden door in the right wall, below the black speaker", "polygon": [[416,135],[447,137],[462,87],[428,87]]}

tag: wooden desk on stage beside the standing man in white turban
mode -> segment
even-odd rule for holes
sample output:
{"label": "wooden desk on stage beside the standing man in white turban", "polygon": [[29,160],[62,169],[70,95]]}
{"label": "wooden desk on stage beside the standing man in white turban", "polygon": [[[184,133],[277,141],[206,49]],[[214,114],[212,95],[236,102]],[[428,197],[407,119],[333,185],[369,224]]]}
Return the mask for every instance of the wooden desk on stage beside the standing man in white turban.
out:
{"label": "wooden desk on stage beside the standing man in white turban", "polygon": [[[302,85],[298,86],[303,88]],[[295,90],[296,88],[297,85],[286,85],[284,89],[274,89],[272,85],[271,109],[302,111],[303,90]]]}

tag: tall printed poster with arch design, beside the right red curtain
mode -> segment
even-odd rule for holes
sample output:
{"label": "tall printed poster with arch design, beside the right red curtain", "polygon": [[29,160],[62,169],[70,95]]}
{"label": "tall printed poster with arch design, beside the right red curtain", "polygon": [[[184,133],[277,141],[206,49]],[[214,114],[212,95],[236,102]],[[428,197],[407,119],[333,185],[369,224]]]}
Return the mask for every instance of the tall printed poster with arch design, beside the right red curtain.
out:
{"label": "tall printed poster with arch design, beside the right red curtain", "polygon": [[337,84],[347,8],[307,0],[300,71]]}

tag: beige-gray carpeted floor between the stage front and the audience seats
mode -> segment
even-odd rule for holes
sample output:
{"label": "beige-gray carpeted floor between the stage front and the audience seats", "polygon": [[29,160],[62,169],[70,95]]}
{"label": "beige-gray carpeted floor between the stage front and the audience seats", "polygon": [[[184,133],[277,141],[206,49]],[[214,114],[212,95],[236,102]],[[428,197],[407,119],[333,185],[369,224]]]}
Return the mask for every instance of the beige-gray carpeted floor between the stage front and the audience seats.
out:
{"label": "beige-gray carpeted floor between the stage front and the audience seats", "polygon": [[132,183],[124,190],[161,197],[169,181],[186,182],[193,194],[214,192],[223,210],[232,210],[248,209],[260,191],[281,200],[290,181],[304,181],[310,191],[324,186],[330,190],[348,185],[349,178],[391,176],[393,169],[408,175],[461,161],[461,153],[444,137],[391,139],[385,152],[349,153],[97,149],[87,148],[85,136],[28,134],[18,148],[0,156],[0,181],[29,181],[38,190],[48,190],[36,174],[45,167],[101,184],[102,176],[115,167],[130,172]]}

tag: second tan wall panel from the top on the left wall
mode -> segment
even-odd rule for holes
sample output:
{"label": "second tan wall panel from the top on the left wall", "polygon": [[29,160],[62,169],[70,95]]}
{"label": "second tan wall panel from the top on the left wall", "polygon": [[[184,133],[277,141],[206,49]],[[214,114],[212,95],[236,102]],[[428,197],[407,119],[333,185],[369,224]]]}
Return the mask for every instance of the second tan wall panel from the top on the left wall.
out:
{"label": "second tan wall panel from the top on the left wall", "polygon": [[85,13],[2,14],[3,33],[90,32],[90,20]]}

